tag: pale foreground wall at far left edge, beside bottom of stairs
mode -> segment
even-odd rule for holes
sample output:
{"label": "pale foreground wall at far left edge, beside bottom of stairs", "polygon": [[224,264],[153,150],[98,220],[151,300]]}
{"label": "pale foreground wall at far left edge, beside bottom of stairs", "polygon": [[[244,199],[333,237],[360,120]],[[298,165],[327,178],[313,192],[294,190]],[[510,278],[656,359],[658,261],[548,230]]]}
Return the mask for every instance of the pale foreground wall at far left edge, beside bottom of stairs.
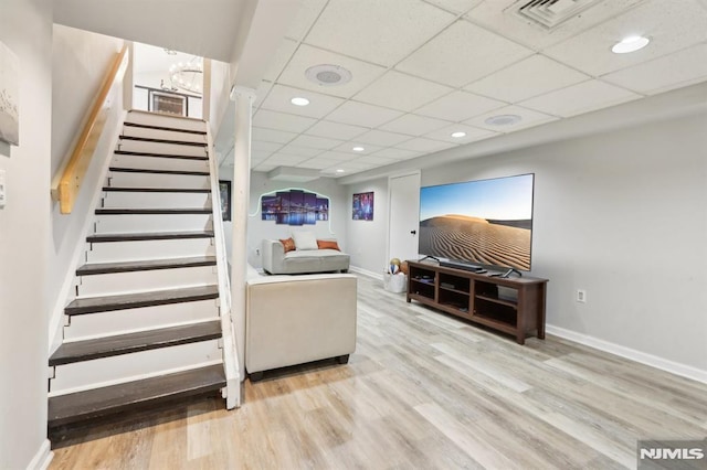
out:
{"label": "pale foreground wall at far left edge, beside bottom of stairs", "polygon": [[[0,150],[0,468],[45,463],[50,314],[51,0],[2,0],[0,41],[19,58],[20,146]],[[7,149],[6,149],[7,150]],[[7,154],[9,153],[9,156]]]}

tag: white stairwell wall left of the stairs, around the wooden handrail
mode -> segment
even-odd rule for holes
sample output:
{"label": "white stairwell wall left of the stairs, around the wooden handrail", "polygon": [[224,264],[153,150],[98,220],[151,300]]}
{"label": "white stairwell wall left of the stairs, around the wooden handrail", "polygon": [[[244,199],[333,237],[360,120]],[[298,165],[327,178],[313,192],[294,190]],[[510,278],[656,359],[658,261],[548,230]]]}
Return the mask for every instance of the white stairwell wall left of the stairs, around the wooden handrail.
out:
{"label": "white stairwell wall left of the stairs, around the wooden handrail", "polygon": [[[54,25],[52,49],[52,175],[68,154],[80,132],[84,117],[101,88],[106,71],[115,54],[123,47],[123,40]],[[66,303],[70,285],[67,273],[75,269],[76,255],[84,242],[86,217],[92,217],[96,188],[102,184],[103,169],[110,158],[114,140],[123,120],[123,87],[115,88],[108,120],[98,141],[94,158],[71,214],[61,214],[59,203],[52,203],[51,250],[48,260],[50,279],[48,299],[53,302],[50,323],[50,341],[56,343],[63,305]],[[56,345],[56,344],[55,344]]]}

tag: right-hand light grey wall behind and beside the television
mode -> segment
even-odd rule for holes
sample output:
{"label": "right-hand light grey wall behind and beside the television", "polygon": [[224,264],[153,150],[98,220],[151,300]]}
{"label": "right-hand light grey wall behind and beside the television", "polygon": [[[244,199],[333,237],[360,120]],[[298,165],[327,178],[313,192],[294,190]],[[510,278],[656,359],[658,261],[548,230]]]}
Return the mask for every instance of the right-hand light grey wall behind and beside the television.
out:
{"label": "right-hand light grey wall behind and beside the television", "polygon": [[548,324],[707,377],[705,129],[690,116],[471,159],[422,185],[534,172]]}

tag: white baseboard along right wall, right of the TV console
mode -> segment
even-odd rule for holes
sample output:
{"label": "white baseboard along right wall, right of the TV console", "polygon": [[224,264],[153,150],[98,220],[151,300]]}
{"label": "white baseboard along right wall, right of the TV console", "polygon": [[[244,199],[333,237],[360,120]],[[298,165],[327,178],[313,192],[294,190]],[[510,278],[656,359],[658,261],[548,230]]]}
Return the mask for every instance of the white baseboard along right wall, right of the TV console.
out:
{"label": "white baseboard along right wall, right of the TV console", "polygon": [[555,334],[556,337],[574,341],[576,343],[580,343],[585,346],[594,348],[597,350],[615,354],[621,357],[630,359],[631,361],[640,362],[641,364],[650,365],[662,371],[671,372],[675,375],[680,375],[683,377],[692,378],[694,381],[707,384],[707,371],[693,367],[692,365],[680,364],[678,362],[658,357],[653,354],[647,354],[641,351],[633,350],[631,348],[622,346],[621,344],[600,340],[599,338],[578,333],[571,330],[566,330],[560,327],[555,327],[552,324],[546,325],[546,331],[550,334]]}

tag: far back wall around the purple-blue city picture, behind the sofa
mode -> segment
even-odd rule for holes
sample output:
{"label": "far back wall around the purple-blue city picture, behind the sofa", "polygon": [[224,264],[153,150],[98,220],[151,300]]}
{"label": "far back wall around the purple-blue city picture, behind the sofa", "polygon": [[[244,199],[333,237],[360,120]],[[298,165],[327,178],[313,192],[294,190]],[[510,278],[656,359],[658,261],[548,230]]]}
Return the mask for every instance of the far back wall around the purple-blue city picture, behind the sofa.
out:
{"label": "far back wall around the purple-blue city picture, behind the sofa", "polygon": [[[219,178],[221,180],[232,180],[232,167],[222,167],[219,169]],[[315,225],[289,226],[277,225],[273,221],[263,221],[260,213],[260,196],[263,193],[276,190],[285,190],[288,188],[304,189],[306,191],[325,195],[329,197],[329,223],[317,222]],[[234,191],[235,192],[235,191]],[[263,172],[251,172],[251,194],[249,213],[256,215],[247,220],[247,259],[249,263],[256,268],[262,267],[262,258],[257,254],[261,248],[263,238],[287,238],[294,231],[313,231],[317,238],[336,238],[342,250],[348,253],[349,239],[347,237],[346,216],[350,213],[346,209],[346,189],[337,184],[336,180],[330,178],[320,178],[318,180],[306,183],[272,181],[267,179],[267,174]],[[350,211],[350,202],[348,206]],[[231,241],[233,234],[233,223],[224,223],[224,232],[226,239],[226,250],[229,259],[231,259]]]}

